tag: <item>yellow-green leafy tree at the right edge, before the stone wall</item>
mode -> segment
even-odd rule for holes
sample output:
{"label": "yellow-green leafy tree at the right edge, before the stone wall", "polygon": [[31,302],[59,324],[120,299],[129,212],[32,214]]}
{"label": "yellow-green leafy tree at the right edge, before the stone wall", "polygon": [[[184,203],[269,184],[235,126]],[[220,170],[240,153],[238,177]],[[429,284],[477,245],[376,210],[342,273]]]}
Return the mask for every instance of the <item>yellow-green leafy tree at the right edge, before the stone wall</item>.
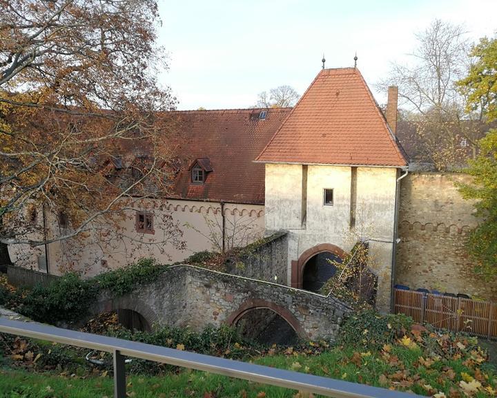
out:
{"label": "yellow-green leafy tree at the right edge, before the stone wall", "polygon": [[[465,79],[458,82],[467,95],[468,107],[479,111],[487,122],[497,120],[497,39],[481,39],[471,55],[474,64]],[[476,199],[478,215],[484,221],[471,232],[469,252],[477,261],[476,271],[497,275],[497,130],[490,129],[480,140],[480,155],[469,162],[467,173],[473,184],[460,184],[467,199]]]}

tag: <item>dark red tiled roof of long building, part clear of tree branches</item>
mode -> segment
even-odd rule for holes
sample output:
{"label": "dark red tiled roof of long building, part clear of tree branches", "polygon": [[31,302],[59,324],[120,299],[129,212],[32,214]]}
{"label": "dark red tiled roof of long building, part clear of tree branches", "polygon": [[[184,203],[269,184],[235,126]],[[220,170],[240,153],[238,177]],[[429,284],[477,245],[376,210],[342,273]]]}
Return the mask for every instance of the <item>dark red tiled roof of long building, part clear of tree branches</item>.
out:
{"label": "dark red tiled roof of long building, part clear of tree branches", "polygon": [[[260,111],[267,111],[264,120]],[[179,140],[175,157],[183,169],[171,198],[264,204],[264,164],[254,163],[291,108],[175,112]],[[208,158],[212,171],[191,183],[190,167]],[[202,163],[204,164],[204,163]]]}

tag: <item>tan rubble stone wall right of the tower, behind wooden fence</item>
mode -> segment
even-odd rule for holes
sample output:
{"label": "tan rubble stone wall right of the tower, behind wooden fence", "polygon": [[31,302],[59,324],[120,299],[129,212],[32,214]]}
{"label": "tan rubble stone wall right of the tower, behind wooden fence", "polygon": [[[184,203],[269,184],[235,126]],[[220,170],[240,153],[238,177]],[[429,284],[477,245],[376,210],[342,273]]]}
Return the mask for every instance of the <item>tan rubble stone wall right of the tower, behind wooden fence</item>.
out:
{"label": "tan rubble stone wall right of the tower, behind wooden fence", "polygon": [[410,173],[401,181],[395,282],[411,289],[465,293],[497,300],[497,281],[472,272],[465,250],[469,231],[478,225],[473,202],[460,196],[460,173]]}

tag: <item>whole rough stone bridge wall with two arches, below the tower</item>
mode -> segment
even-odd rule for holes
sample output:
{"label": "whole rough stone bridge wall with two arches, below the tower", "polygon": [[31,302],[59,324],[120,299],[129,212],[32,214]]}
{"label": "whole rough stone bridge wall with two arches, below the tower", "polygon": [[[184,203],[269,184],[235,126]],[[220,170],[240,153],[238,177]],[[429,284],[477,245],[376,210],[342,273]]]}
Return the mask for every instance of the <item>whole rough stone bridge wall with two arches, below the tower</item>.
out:
{"label": "whole rough stone bridge wall with two arches, below the tower", "polygon": [[334,339],[351,308],[333,296],[223,274],[192,265],[166,269],[153,283],[124,296],[102,292],[91,314],[134,310],[149,325],[188,326],[235,324],[250,310],[268,308],[282,316],[299,337]]}

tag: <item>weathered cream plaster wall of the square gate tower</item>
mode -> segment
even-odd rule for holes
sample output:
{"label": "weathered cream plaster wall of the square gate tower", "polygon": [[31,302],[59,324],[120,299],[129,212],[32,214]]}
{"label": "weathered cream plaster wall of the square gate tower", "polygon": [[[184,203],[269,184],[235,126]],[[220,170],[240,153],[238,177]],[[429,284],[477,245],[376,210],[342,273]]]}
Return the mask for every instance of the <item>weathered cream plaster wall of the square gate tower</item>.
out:
{"label": "weathered cream plaster wall of the square gate tower", "polygon": [[[297,167],[300,172],[295,170]],[[284,177],[289,170],[291,173]],[[355,225],[351,225],[351,167],[309,165],[305,222],[289,226],[286,220],[289,209],[296,211],[302,206],[302,189],[298,189],[302,184],[301,174],[302,166],[299,165],[292,165],[291,169],[284,164],[266,165],[266,203],[271,202],[271,207],[266,206],[266,234],[282,229],[288,231],[287,284],[292,284],[292,269],[306,250],[329,243],[349,252],[359,239],[371,239],[369,252],[371,269],[378,276],[378,309],[387,312],[391,294],[397,170],[357,168],[356,217]],[[324,189],[333,189],[333,206],[324,205]],[[279,200],[280,196],[284,201]]]}

